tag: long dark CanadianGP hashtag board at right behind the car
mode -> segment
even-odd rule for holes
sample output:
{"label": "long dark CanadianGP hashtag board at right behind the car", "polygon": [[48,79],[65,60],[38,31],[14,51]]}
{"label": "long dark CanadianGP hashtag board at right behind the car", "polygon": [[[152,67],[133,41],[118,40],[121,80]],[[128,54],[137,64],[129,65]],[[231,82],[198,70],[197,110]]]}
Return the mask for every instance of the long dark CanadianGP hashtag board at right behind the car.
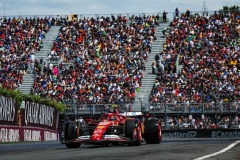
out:
{"label": "long dark CanadianGP hashtag board at right behind the car", "polygon": [[240,129],[163,130],[165,138],[240,138]]}

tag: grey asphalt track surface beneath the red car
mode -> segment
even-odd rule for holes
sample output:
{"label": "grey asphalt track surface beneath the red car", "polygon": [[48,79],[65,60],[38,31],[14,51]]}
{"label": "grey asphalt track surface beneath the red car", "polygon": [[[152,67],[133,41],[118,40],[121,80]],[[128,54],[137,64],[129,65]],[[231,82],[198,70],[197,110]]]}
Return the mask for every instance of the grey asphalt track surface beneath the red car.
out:
{"label": "grey asphalt track surface beneath the red car", "polygon": [[[0,144],[0,160],[194,160],[218,152],[236,140],[163,139],[161,144],[141,146],[82,145],[68,149],[59,142]],[[240,160],[240,145],[206,160]]]}

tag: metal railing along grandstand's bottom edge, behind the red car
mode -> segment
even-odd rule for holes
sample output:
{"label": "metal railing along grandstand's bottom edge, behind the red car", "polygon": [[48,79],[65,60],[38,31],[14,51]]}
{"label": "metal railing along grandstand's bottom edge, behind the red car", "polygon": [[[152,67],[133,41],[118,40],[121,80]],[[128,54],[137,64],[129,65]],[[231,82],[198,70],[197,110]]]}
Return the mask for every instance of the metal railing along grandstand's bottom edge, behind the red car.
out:
{"label": "metal railing along grandstand's bottom edge, behind the red car", "polygon": [[[131,111],[132,103],[116,104],[81,104],[75,102],[65,103],[68,106],[66,112],[75,114],[100,114],[120,108],[119,111]],[[140,107],[139,107],[140,108]],[[144,107],[142,107],[144,109]],[[240,102],[224,103],[154,103],[142,110],[149,113],[166,114],[240,114]]]}

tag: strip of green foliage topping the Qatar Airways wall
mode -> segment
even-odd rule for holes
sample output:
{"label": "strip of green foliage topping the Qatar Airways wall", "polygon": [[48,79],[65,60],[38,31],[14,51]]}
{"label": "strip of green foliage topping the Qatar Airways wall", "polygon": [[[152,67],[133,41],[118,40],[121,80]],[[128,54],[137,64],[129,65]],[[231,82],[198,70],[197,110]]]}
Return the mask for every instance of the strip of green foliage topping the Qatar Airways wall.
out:
{"label": "strip of green foliage topping the Qatar Airways wall", "polygon": [[66,109],[65,104],[61,102],[57,102],[51,99],[43,99],[38,95],[23,94],[18,90],[8,90],[6,88],[0,87],[0,95],[15,99],[19,105],[22,101],[31,101],[54,107],[60,112],[63,112]]}

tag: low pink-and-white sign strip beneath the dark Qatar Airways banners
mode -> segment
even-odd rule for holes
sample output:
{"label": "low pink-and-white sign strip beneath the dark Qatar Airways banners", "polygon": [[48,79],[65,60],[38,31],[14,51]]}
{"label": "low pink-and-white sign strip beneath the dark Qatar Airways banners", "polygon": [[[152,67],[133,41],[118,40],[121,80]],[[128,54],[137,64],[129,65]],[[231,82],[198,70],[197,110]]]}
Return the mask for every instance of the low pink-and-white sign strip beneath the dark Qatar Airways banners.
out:
{"label": "low pink-and-white sign strip beneath the dark Qatar Airways banners", "polygon": [[43,128],[0,126],[1,142],[57,141],[58,132]]}

